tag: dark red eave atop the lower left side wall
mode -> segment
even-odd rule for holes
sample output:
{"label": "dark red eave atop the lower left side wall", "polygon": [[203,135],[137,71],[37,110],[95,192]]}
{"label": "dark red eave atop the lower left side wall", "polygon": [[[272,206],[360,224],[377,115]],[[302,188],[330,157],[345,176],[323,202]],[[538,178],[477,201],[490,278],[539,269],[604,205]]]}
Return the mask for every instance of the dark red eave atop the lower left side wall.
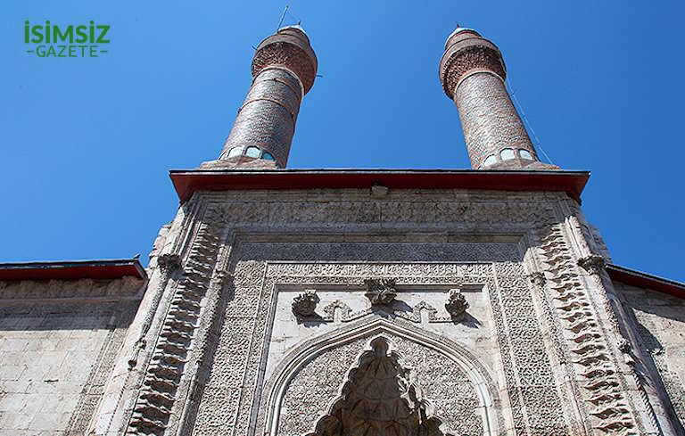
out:
{"label": "dark red eave atop the lower left side wall", "polygon": [[124,276],[147,278],[138,259],[0,264],[0,280],[5,281],[116,279]]}

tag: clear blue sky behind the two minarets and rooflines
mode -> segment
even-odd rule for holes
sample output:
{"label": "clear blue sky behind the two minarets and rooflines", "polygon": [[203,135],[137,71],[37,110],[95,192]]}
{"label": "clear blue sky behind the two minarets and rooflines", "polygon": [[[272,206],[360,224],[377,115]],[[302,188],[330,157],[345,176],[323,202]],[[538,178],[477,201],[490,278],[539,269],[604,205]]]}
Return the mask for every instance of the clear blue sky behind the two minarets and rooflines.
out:
{"label": "clear blue sky behind the two minarets and rooflines", "polygon": [[[683,2],[289,1],[318,55],[290,168],[468,168],[437,74],[457,22],[504,53],[549,157],[590,169],[615,263],[685,280]],[[0,261],[142,253],[177,210],[169,169],[215,159],[285,2],[0,4]],[[99,58],[25,53],[23,23],[111,25]]]}

